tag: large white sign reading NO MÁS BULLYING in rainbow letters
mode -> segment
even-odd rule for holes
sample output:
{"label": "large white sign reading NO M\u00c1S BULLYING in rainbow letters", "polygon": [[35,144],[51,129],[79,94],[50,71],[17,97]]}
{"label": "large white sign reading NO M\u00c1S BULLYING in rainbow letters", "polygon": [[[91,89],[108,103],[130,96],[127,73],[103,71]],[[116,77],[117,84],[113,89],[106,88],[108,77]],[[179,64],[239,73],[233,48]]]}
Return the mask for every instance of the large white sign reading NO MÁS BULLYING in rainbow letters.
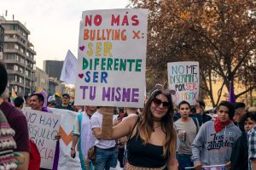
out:
{"label": "large white sign reading NO M\u00c1S BULLYING in rainbow letters", "polygon": [[84,11],[75,105],[143,107],[148,9]]}

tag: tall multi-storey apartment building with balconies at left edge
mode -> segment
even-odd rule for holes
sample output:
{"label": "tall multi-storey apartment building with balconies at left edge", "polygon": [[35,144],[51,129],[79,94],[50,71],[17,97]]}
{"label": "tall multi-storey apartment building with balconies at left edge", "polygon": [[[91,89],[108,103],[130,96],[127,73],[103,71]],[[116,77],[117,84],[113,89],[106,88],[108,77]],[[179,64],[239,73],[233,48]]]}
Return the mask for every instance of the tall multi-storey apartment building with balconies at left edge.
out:
{"label": "tall multi-storey apartment building with balconies at left edge", "polygon": [[[36,61],[30,31],[19,20],[5,20],[0,16],[3,27],[3,63],[9,76],[9,88],[20,95],[28,95],[35,91]],[[1,39],[0,39],[1,46]]]}

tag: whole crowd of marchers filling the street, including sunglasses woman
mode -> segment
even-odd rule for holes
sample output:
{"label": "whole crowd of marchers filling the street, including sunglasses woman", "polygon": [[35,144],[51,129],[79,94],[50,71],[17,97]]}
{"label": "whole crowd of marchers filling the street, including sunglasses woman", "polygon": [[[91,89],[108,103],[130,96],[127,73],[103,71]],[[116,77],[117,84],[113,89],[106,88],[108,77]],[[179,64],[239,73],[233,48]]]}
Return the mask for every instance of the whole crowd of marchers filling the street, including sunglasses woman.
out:
{"label": "whole crowd of marchers filling the street, including sunglasses woman", "polygon": [[[12,103],[5,94],[8,75],[2,63],[0,77],[0,169],[44,169],[21,111],[26,105],[47,114],[52,114],[50,107],[78,112],[71,122],[70,156],[79,153],[83,170],[201,170],[209,166],[256,170],[256,111],[244,103],[222,101],[205,111],[203,101],[189,105],[183,100],[175,107],[170,91],[160,84],[152,89],[144,108],[71,105],[69,94],[62,94],[58,105],[44,91],[26,99],[17,97]],[[118,116],[113,119],[109,114]],[[103,126],[104,120],[108,127]],[[104,134],[109,132],[107,138]],[[60,139],[58,133],[52,169],[58,169]]]}

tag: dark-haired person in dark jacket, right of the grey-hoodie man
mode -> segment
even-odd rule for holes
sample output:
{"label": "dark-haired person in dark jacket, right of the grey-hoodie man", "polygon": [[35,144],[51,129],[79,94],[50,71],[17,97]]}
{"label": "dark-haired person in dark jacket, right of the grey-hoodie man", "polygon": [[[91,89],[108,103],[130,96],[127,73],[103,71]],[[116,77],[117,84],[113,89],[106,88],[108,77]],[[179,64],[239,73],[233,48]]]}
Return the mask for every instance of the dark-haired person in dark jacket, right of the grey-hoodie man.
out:
{"label": "dark-haired person in dark jacket, right of the grey-hoodie man", "polygon": [[230,158],[232,170],[248,169],[247,133],[256,125],[256,114],[247,112],[246,115],[241,117],[241,124],[243,124],[244,131],[233,144]]}

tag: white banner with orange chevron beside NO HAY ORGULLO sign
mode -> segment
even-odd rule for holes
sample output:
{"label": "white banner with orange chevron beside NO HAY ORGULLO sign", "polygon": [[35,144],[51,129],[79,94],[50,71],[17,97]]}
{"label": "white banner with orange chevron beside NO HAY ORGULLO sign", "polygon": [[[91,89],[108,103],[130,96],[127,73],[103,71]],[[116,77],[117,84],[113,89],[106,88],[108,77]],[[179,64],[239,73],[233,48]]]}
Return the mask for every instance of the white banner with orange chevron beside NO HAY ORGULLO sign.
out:
{"label": "white banner with orange chevron beside NO HAY ORGULLO sign", "polygon": [[73,124],[79,113],[64,109],[49,108],[56,116],[61,117],[60,125],[60,156],[58,163],[58,170],[80,170],[79,150],[77,150],[76,157],[70,156],[73,137]]}

